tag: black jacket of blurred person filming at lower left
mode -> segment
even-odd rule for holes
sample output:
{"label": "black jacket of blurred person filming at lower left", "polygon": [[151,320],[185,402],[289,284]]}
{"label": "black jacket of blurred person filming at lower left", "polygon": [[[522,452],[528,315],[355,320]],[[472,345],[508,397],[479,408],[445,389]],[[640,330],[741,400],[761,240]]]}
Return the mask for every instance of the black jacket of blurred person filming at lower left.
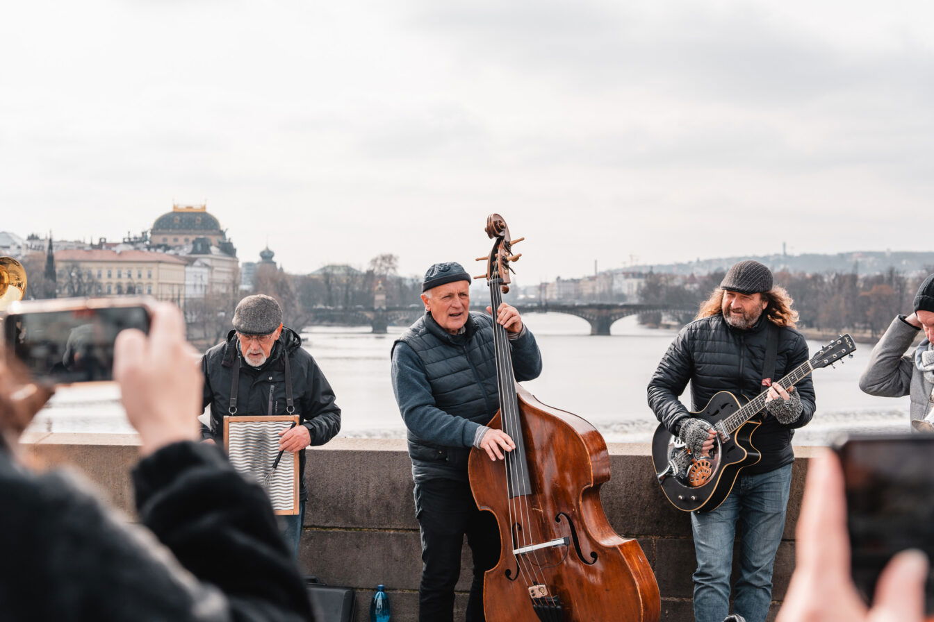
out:
{"label": "black jacket of blurred person filming at lower left", "polygon": [[160,449],[136,467],[134,487],[149,529],[77,477],[35,475],[0,449],[0,618],[312,618],[265,492],[217,448]]}

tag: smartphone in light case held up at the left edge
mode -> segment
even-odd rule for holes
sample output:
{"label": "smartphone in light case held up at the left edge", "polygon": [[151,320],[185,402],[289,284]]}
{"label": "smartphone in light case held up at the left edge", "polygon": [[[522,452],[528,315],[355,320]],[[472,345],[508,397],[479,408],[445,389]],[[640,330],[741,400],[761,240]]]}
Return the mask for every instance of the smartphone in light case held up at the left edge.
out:
{"label": "smartphone in light case held up at the left edge", "polygon": [[3,350],[33,377],[58,385],[113,380],[121,330],[149,333],[151,299],[59,298],[12,303],[0,316]]}

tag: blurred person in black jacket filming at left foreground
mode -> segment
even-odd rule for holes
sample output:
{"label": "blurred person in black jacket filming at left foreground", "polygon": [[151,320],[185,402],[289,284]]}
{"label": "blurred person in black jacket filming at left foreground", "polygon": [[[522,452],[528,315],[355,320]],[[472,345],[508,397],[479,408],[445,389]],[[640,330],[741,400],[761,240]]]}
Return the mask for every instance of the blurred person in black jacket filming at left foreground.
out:
{"label": "blurred person in black jacket filming at left foreground", "polygon": [[9,620],[309,620],[298,569],[272,506],[191,419],[202,376],[177,308],[149,337],[120,333],[114,376],[142,460],[140,525],[70,472],[35,474],[17,440],[51,392],[0,361],[0,618]]}

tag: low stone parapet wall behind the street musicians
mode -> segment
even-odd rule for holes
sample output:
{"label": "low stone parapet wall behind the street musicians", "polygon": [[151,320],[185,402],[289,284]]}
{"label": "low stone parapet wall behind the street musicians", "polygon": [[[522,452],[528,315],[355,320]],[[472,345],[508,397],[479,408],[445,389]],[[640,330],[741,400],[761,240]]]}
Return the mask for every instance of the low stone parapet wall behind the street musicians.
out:
{"label": "low stone parapet wall behind the street musicians", "polygon": [[[132,514],[127,473],[137,441],[125,435],[34,435],[24,439],[47,465],[74,464],[106,495]],[[645,445],[610,446],[613,477],[601,498],[621,535],[637,538],[658,578],[662,620],[684,622],[691,615],[694,570],[689,515],[676,510],[658,490]],[[798,449],[785,535],[775,563],[772,616],[785,596],[794,566],[794,525],[798,518],[808,449]],[[421,570],[410,463],[404,441],[339,438],[310,449],[305,472],[309,498],[300,561],[307,574],[334,586],[357,589],[356,620],[369,619],[376,584],[387,587],[392,619],[417,619]],[[468,549],[458,585],[458,609],[466,601]]]}

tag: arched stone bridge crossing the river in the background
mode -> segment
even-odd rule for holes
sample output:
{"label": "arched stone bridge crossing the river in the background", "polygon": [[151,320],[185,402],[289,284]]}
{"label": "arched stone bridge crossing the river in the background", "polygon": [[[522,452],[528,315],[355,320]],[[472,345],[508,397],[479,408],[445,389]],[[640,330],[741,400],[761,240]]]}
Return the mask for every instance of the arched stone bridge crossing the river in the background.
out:
{"label": "arched stone bridge crossing the river in the background", "polygon": [[[591,335],[609,335],[610,326],[616,320],[638,313],[691,313],[695,309],[668,305],[643,305],[627,303],[582,303],[582,304],[519,304],[519,313],[567,313],[587,320]],[[486,306],[471,307],[471,311],[485,311]],[[352,309],[341,307],[318,307],[306,311],[305,325],[371,325],[373,332],[386,333],[389,325],[410,325],[423,313],[421,305],[366,309],[360,305]]]}

